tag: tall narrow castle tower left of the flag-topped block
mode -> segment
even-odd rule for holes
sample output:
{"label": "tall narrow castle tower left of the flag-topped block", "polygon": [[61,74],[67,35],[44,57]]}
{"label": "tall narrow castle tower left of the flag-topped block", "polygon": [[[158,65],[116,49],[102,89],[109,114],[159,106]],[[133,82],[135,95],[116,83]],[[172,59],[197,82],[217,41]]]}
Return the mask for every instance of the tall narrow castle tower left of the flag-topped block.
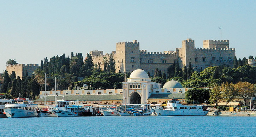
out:
{"label": "tall narrow castle tower left of the flag-topped block", "polygon": [[192,67],[195,64],[195,41],[191,38],[182,41],[182,47],[178,48],[178,61],[180,68],[185,65],[188,67],[191,62]]}

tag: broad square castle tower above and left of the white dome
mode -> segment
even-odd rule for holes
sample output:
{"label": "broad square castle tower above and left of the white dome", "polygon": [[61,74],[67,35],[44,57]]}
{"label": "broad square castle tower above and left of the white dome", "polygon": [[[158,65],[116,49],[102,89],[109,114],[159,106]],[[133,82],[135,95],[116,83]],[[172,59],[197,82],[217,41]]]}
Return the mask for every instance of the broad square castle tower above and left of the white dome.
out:
{"label": "broad square castle tower above and left of the white dome", "polygon": [[116,72],[132,72],[140,68],[139,63],[139,42],[118,42],[116,43]]}

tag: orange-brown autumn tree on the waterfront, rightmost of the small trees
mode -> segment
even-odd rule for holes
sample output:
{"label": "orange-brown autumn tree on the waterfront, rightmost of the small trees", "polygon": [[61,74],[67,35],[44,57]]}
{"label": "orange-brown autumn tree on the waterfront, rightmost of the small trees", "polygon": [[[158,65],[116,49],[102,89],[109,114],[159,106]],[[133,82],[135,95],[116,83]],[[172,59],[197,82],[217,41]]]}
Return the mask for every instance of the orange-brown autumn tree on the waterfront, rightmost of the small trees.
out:
{"label": "orange-brown autumn tree on the waterfront, rightmost of the small trees", "polygon": [[245,106],[246,101],[250,100],[252,97],[255,97],[256,95],[255,85],[249,82],[238,82],[234,85],[234,87],[238,91],[238,96],[243,97]]}

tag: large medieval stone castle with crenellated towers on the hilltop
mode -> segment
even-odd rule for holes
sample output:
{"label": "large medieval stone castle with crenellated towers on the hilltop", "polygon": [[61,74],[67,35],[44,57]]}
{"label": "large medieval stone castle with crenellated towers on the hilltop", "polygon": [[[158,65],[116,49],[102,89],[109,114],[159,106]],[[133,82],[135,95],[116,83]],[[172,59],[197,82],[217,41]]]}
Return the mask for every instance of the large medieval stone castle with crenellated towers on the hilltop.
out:
{"label": "large medieval stone castle with crenellated towers on the hilltop", "polygon": [[[93,50],[94,64],[103,68],[103,57],[109,58],[109,54],[103,55],[103,51]],[[182,41],[182,47],[176,50],[168,50],[159,52],[147,52],[147,50],[139,49],[139,42],[118,42],[116,43],[116,51],[112,52],[115,59],[116,72],[132,72],[142,69],[154,75],[156,68],[167,74],[169,65],[179,63],[180,67],[189,66],[191,62],[192,68],[196,71],[202,71],[206,67],[226,66],[233,67],[233,59],[236,55],[234,48],[229,48],[228,40],[204,40],[203,48],[195,48],[195,41],[188,38]]]}

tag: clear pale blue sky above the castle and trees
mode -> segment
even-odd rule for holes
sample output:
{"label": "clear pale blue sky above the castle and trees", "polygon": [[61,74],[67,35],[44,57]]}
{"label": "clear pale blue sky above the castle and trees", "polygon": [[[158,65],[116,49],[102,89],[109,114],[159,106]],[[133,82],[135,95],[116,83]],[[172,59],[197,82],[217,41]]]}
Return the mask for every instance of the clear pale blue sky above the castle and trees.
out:
{"label": "clear pale blue sky above the castle and trees", "polygon": [[[0,1],[0,73],[8,59],[39,64],[45,57],[103,50],[138,40],[163,52],[187,38],[229,40],[238,58],[256,56],[255,1]],[[218,29],[222,26],[222,29]]]}

